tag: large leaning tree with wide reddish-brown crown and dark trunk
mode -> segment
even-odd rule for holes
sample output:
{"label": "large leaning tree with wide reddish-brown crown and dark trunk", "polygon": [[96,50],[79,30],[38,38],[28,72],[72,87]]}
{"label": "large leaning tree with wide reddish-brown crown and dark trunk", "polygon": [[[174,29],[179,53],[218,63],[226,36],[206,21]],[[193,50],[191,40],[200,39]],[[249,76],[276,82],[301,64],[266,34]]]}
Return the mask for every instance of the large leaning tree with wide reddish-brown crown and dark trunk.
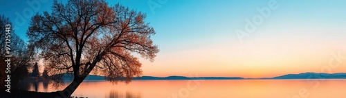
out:
{"label": "large leaning tree with wide reddish-brown crown and dark trunk", "polygon": [[141,75],[134,53],[153,61],[159,51],[151,40],[154,28],[145,17],[103,0],[54,1],[52,13],[33,16],[27,36],[41,49],[48,73],[73,73],[73,82],[62,90],[69,96],[91,71],[113,83]]}

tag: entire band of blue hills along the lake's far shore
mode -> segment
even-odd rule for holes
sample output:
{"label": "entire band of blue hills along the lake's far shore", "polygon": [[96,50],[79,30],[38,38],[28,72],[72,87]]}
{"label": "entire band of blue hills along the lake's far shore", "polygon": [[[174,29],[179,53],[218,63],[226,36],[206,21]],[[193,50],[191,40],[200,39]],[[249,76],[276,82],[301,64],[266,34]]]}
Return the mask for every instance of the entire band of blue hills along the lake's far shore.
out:
{"label": "entire band of blue hills along the lake's far shore", "polygon": [[[64,80],[71,81],[73,74],[63,73]],[[133,77],[133,80],[173,80],[173,79],[346,79],[346,73],[299,73],[287,74],[271,78],[243,78],[243,77],[185,77],[185,76],[168,76],[168,77],[153,77],[142,76]],[[104,76],[88,75],[84,81],[102,81],[105,80]]]}

